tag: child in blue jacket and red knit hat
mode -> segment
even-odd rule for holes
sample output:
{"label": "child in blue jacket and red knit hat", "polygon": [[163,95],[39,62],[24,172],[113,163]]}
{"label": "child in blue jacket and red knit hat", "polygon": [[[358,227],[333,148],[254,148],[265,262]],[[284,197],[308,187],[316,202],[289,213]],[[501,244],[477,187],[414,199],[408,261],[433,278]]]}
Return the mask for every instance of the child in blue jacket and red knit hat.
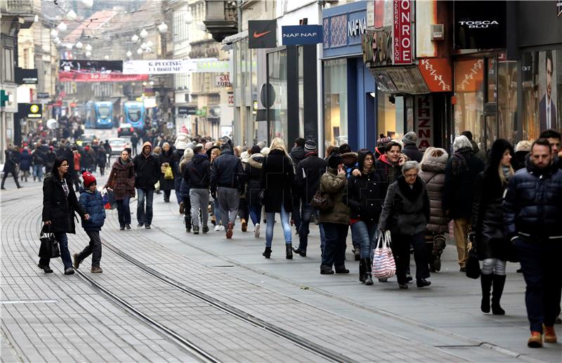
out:
{"label": "child in blue jacket and red knit hat", "polygon": [[79,268],[84,258],[92,255],[92,273],[103,272],[100,268],[101,260],[101,239],[100,230],[105,221],[105,209],[103,208],[103,198],[101,193],[96,190],[98,183],[96,178],[88,172],[82,173],[84,187],[80,188],[80,198],[78,202],[86,209],[90,218],[82,219],[82,227],[90,237],[90,244],[80,253],[74,253],[74,269]]}

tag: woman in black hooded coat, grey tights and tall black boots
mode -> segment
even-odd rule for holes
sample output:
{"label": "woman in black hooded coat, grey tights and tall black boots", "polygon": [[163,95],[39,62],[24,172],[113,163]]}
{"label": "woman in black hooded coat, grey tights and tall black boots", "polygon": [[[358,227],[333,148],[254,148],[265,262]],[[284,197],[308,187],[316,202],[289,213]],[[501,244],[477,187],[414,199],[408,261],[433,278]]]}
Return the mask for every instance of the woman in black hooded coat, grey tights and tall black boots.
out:
{"label": "woman in black hooded coat, grey tights and tall black boots", "polygon": [[504,315],[499,305],[505,284],[507,256],[505,246],[509,243],[504,228],[502,208],[504,191],[514,169],[514,147],[509,141],[497,139],[492,144],[486,169],[478,175],[472,208],[472,231],[470,239],[482,261],[482,312],[490,312],[490,289],[492,289],[492,313]]}

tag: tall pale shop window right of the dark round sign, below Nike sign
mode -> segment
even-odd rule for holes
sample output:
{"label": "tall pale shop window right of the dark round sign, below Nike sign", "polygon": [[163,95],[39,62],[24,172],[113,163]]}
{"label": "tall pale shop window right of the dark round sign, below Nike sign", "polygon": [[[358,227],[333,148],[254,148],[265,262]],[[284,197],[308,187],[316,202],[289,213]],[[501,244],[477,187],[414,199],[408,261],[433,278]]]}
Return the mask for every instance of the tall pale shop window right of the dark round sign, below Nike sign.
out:
{"label": "tall pale shop window right of the dark round sign, below Nike sign", "polygon": [[268,81],[275,91],[275,101],[269,110],[270,138],[287,140],[287,52],[285,50],[268,54]]}

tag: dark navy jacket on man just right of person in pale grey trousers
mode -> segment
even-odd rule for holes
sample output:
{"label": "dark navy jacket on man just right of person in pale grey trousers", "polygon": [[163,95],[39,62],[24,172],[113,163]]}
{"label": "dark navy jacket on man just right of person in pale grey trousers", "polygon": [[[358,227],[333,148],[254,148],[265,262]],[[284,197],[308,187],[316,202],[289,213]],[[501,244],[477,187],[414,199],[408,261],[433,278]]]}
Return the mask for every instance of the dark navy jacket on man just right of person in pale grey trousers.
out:
{"label": "dark navy jacket on man just right of person in pale grey trousers", "polygon": [[238,188],[244,182],[242,162],[226,148],[211,165],[211,192],[217,187]]}

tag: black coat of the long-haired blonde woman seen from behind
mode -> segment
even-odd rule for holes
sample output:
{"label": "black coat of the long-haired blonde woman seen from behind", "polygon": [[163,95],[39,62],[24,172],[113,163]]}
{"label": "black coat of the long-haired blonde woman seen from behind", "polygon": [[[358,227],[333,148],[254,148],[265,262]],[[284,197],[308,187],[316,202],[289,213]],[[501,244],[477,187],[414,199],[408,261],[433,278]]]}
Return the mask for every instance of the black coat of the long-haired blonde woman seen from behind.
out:
{"label": "black coat of the long-haired blonde woman seen from behind", "polygon": [[266,213],[280,213],[293,209],[291,189],[294,180],[294,169],[291,159],[285,151],[273,149],[261,166],[261,189],[263,189],[263,206]]}

